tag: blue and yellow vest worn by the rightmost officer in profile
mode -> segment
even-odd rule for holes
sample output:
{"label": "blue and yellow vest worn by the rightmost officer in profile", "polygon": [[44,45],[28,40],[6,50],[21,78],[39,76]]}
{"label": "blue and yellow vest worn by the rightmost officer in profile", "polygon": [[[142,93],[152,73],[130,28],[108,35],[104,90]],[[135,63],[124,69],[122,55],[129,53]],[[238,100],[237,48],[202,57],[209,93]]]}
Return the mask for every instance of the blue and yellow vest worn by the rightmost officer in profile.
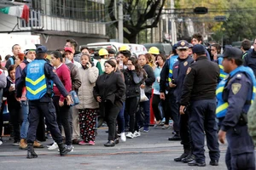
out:
{"label": "blue and yellow vest worn by the rightmost officer in profile", "polygon": [[216,97],[218,99],[218,105],[217,105],[217,109],[216,109],[216,116],[218,118],[224,117],[226,115],[227,108],[229,107],[228,102],[225,102],[224,99],[223,99],[224,87],[226,86],[226,84],[230,80],[230,78],[234,77],[234,75],[236,75],[236,73],[238,73],[238,72],[246,73],[247,76],[249,76],[249,78],[253,82],[253,94],[252,94],[252,98],[250,99],[250,102],[249,102],[248,105],[253,103],[253,99],[254,99],[255,94],[256,94],[256,80],[255,80],[253,70],[249,67],[239,66],[234,71],[230,72],[230,77],[225,77],[221,82],[218,83],[218,87],[217,87],[217,90],[216,90]]}

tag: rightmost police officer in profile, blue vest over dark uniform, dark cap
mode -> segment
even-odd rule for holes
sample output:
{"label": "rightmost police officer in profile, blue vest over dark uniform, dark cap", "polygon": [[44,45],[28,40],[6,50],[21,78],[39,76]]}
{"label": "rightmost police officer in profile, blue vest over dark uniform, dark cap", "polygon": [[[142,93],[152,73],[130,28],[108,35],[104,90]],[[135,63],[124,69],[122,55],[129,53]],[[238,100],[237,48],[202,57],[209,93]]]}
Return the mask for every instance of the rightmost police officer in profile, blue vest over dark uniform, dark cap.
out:
{"label": "rightmost police officer in profile, blue vest over dark uniform, dark cap", "polygon": [[224,50],[224,71],[229,73],[216,91],[220,121],[218,139],[228,141],[228,169],[255,169],[253,139],[247,131],[247,111],[255,97],[256,80],[253,70],[242,65],[242,51],[228,47]]}

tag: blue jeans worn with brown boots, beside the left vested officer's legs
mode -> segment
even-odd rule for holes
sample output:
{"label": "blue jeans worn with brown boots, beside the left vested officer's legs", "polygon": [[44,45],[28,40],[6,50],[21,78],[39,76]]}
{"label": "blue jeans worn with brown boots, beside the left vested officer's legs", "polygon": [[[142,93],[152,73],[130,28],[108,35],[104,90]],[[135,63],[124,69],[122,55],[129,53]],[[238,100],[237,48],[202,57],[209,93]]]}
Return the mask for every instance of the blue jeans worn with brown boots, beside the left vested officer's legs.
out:
{"label": "blue jeans worn with brown boots, beside the left vested officer's legs", "polygon": [[27,130],[28,130],[28,126],[29,126],[29,122],[28,122],[28,102],[27,100],[22,100],[21,101],[21,112],[23,115],[23,122],[21,124],[20,127],[20,139],[26,139],[26,135],[27,135]]}

